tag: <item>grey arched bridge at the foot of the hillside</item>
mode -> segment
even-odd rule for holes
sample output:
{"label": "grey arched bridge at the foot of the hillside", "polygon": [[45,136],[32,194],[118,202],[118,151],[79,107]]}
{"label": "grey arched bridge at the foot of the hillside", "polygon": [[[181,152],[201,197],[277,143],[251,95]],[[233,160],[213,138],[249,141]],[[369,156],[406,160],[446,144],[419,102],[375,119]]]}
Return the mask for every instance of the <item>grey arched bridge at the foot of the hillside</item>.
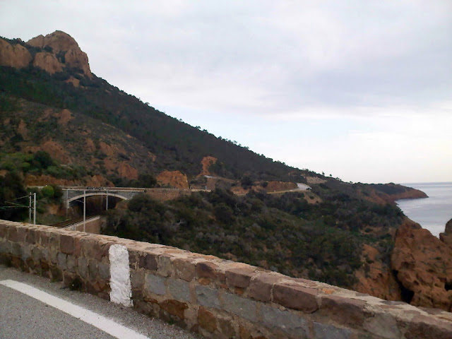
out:
{"label": "grey arched bridge at the foot of the hillside", "polygon": [[105,196],[105,207],[108,210],[108,197],[114,196],[123,200],[130,200],[133,196],[146,191],[145,188],[134,187],[82,187],[82,186],[61,186],[63,191],[63,202],[69,208],[71,201],[87,198],[88,196]]}

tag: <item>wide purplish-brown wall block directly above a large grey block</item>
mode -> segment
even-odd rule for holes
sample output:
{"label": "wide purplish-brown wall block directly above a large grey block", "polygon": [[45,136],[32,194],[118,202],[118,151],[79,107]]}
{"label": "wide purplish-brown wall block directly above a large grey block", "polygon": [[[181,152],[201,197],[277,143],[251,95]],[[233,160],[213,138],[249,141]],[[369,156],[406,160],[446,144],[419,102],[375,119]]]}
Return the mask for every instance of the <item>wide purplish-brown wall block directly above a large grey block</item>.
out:
{"label": "wide purplish-brown wall block directly above a large grey block", "polygon": [[273,286],[273,302],[289,309],[299,309],[304,313],[313,313],[319,309],[314,288],[277,283]]}

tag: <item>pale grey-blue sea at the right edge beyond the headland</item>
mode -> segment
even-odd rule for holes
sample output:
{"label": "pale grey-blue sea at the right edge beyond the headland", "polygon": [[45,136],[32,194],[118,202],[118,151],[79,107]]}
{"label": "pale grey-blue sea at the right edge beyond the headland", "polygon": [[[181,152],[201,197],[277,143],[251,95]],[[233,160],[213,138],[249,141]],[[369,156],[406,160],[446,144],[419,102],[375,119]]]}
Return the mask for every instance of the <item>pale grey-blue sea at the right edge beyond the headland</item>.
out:
{"label": "pale grey-blue sea at the right edge beyond the headland", "polygon": [[398,207],[408,218],[439,237],[446,222],[452,219],[452,182],[417,182],[403,186],[420,189],[429,197],[398,200]]}

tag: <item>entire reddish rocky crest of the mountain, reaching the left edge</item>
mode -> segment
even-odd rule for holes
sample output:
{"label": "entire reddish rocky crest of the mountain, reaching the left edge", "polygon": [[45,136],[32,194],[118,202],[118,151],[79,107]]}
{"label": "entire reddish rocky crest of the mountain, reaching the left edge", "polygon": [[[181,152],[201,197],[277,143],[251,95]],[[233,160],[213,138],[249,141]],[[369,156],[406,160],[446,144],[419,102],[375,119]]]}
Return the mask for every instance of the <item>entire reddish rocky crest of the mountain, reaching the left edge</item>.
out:
{"label": "entire reddish rocky crest of the mountain, reaching the left edge", "polygon": [[[42,52],[35,53],[34,57],[26,48],[37,47]],[[66,67],[77,68],[83,74],[92,77],[88,56],[83,52],[76,40],[71,35],[57,30],[51,34],[38,35],[26,42],[25,47],[20,43],[11,44],[0,39],[0,66],[11,66],[15,68],[32,65],[39,67],[51,74],[61,72]]]}

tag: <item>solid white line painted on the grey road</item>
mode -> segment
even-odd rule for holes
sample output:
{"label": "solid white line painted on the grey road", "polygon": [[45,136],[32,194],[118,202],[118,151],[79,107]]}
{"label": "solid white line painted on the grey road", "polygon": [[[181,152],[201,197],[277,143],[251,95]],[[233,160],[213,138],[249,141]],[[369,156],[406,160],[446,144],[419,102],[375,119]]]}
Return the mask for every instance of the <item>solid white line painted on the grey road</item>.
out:
{"label": "solid white line painted on the grey road", "polygon": [[49,295],[49,293],[38,290],[30,285],[19,283],[15,280],[1,280],[0,284],[23,293],[24,295],[35,298],[40,302],[44,302],[44,304],[48,304],[49,306],[59,309],[60,311],[64,311],[64,313],[80,319],[81,321],[85,321],[85,323],[89,323],[90,325],[99,328],[105,333],[112,335],[114,338],[149,339],[145,335],[105,318],[105,316],[101,316],[100,314],[89,311],[88,309],[83,309],[83,307],[66,302],[66,300]]}

